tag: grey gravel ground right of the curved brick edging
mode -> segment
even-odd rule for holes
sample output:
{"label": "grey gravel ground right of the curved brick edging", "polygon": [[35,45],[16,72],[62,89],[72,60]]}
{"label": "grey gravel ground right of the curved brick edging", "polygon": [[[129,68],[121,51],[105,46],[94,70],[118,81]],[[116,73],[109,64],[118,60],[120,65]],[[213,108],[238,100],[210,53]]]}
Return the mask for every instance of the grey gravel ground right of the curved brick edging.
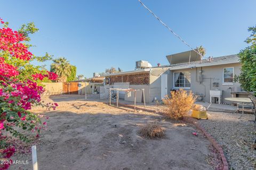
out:
{"label": "grey gravel ground right of the curved brick edging", "polygon": [[230,169],[256,169],[256,150],[252,148],[256,139],[254,115],[207,112],[209,120],[198,120],[207,132],[222,145]]}

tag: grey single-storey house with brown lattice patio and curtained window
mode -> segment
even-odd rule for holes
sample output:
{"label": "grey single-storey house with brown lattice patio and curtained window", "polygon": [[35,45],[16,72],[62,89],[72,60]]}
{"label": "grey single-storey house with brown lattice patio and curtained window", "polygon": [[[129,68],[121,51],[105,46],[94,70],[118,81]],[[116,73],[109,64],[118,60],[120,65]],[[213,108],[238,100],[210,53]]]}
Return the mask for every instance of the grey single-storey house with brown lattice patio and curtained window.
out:
{"label": "grey single-storey house with brown lattice patio and curtained window", "polygon": [[200,60],[193,50],[166,56],[170,65],[151,67],[129,72],[106,75],[110,86],[117,82],[129,82],[130,88],[145,89],[145,101],[161,100],[174,89],[191,90],[210,102],[210,90],[222,90],[224,98],[231,91],[240,91],[240,84],[233,82],[240,73],[241,63],[237,55]]}

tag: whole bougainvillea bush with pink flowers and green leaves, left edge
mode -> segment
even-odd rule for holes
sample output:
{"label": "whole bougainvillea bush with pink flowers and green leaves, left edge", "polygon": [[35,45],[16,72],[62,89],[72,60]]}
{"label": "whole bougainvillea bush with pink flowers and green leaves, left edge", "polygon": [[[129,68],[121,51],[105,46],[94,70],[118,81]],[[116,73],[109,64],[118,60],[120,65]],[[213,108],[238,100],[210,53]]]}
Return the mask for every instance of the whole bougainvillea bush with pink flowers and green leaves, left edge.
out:
{"label": "whole bougainvillea bush with pink flowers and green leaves, left edge", "polygon": [[31,107],[41,105],[55,109],[58,106],[43,104],[44,89],[40,86],[43,81],[56,80],[57,75],[44,66],[31,64],[33,60],[51,59],[47,53],[35,56],[29,52],[29,35],[38,31],[34,23],[24,24],[14,31],[1,18],[0,22],[0,158],[5,160],[0,169],[8,169],[12,164],[11,156],[17,150],[12,140],[27,142],[31,134],[38,138],[40,130],[46,126],[42,115],[29,112]]}

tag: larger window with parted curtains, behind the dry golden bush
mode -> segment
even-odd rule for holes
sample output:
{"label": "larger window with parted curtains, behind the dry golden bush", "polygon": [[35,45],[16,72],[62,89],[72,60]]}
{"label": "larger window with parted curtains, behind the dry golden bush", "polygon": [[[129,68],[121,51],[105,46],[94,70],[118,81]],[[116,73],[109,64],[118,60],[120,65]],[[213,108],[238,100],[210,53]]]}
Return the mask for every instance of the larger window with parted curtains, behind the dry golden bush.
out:
{"label": "larger window with parted curtains, behind the dry golden bush", "polygon": [[190,72],[174,73],[174,88],[190,88]]}

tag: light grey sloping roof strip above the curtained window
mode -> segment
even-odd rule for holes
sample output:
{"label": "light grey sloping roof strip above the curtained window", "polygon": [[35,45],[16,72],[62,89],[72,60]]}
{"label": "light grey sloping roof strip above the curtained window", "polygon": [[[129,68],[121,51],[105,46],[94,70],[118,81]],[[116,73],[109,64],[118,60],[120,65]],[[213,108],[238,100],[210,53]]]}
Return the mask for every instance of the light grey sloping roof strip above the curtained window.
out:
{"label": "light grey sloping roof strip above the curtained window", "polygon": [[170,70],[179,70],[179,69],[188,69],[194,67],[204,67],[204,66],[214,66],[214,65],[222,65],[222,64],[233,64],[239,63],[239,57],[237,55],[228,55],[221,57],[214,57],[213,61],[209,62],[206,59],[201,61],[195,61],[190,63],[182,63],[182,64],[172,64],[169,65]]}

